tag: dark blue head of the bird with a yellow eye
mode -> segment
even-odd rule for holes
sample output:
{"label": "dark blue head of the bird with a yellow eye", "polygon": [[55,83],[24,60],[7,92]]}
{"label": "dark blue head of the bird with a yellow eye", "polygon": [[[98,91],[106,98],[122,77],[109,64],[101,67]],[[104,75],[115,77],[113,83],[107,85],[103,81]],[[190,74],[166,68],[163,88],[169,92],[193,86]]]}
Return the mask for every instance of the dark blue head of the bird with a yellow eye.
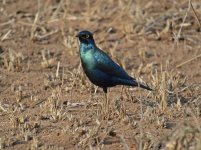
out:
{"label": "dark blue head of the bird with a yellow eye", "polygon": [[80,31],[77,35],[77,38],[79,38],[79,41],[81,43],[85,44],[95,44],[94,38],[93,38],[93,33],[90,31]]}

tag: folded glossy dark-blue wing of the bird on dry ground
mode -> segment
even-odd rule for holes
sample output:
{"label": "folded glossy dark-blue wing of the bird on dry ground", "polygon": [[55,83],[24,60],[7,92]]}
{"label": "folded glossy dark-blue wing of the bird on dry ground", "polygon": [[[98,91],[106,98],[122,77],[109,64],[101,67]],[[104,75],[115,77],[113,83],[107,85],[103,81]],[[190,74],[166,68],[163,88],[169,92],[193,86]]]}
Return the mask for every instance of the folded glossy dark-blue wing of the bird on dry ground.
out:
{"label": "folded glossy dark-blue wing of the bird on dry ground", "polygon": [[115,77],[123,79],[132,79],[123,68],[116,64],[105,52],[98,50],[94,53],[97,65],[101,71]]}

